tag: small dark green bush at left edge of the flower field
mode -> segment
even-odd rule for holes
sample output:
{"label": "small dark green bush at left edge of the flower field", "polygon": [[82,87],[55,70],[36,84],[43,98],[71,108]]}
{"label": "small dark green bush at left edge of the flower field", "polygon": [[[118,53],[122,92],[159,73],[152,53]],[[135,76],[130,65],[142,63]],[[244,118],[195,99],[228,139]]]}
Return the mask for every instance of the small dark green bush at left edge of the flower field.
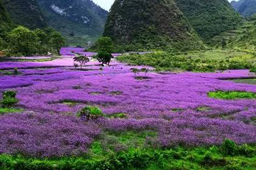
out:
{"label": "small dark green bush at left edge of the flower field", "polygon": [[16,99],[16,92],[15,91],[4,91],[2,94],[2,107],[10,108],[11,106],[18,103],[18,99]]}

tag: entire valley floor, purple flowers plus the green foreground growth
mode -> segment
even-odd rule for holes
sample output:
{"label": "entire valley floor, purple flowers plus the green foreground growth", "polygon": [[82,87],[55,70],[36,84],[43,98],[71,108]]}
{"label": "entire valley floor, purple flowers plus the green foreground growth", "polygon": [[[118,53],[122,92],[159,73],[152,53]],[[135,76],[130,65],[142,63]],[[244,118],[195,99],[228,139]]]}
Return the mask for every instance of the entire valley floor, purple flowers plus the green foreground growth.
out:
{"label": "entire valley floor, purple flowers plus the green foreground growth", "polygon": [[[64,48],[60,59],[0,63],[0,92],[15,90],[19,99],[16,110],[0,117],[0,153],[15,155],[0,155],[0,169],[255,168],[256,100],[209,96],[255,94],[248,70],[134,76],[133,67],[116,60],[110,67],[92,60],[79,70],[72,50],[82,53]],[[14,68],[18,75],[1,74]],[[107,117],[80,120],[75,114],[85,105],[99,107]]]}

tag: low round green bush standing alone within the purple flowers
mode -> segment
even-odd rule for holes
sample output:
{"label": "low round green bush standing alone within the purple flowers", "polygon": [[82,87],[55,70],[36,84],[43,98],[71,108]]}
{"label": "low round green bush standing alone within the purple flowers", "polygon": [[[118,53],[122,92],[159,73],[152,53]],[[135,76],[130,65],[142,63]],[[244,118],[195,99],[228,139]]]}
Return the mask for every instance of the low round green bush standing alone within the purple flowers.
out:
{"label": "low round green bush standing alone within the purple flowers", "polygon": [[77,116],[88,121],[90,119],[96,120],[99,117],[105,116],[105,114],[102,113],[102,110],[100,110],[100,108],[97,108],[95,106],[86,106],[78,111]]}

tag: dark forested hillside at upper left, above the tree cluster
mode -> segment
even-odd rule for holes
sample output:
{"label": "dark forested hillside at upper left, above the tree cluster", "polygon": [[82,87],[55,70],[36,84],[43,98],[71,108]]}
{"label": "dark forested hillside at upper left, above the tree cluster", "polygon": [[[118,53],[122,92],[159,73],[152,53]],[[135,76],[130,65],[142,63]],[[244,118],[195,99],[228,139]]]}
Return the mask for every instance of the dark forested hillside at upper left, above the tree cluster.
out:
{"label": "dark forested hillside at upper left, above the tree cluster", "polygon": [[37,0],[13,0],[4,6],[15,24],[32,29],[46,27],[46,22]]}

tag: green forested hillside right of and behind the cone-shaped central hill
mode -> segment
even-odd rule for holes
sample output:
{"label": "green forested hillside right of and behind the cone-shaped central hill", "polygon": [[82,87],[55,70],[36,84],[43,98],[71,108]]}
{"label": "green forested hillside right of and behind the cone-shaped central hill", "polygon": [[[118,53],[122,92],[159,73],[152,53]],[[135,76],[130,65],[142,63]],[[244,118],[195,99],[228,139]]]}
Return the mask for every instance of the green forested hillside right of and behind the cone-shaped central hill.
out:
{"label": "green forested hillside right of and behind the cone-shaped central hill", "polygon": [[227,0],[175,0],[202,39],[210,38],[234,28],[241,21],[240,15]]}

